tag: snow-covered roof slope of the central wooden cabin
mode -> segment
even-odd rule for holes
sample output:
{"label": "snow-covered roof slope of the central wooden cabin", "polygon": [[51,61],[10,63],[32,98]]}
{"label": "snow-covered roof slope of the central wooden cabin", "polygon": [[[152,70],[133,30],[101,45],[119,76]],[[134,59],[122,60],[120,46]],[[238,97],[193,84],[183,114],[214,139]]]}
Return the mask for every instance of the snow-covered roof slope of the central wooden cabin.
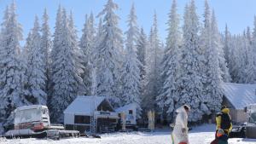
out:
{"label": "snow-covered roof slope of the central wooden cabin", "polygon": [[106,97],[103,96],[78,96],[64,111],[64,113],[91,114],[93,104],[96,109]]}

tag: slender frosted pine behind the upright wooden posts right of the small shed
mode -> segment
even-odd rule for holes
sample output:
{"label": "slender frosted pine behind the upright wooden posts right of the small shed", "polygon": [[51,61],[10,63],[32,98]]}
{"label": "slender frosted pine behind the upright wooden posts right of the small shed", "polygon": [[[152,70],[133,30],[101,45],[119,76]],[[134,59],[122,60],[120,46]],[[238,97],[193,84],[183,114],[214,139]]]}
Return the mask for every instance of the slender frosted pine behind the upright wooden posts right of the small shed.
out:
{"label": "slender frosted pine behind the upright wooden posts right of the small shed", "polygon": [[156,96],[160,92],[160,71],[163,49],[160,49],[158,36],[157,16],[154,12],[154,23],[149,34],[149,47],[147,50],[146,94],[143,96],[145,110],[156,108]]}

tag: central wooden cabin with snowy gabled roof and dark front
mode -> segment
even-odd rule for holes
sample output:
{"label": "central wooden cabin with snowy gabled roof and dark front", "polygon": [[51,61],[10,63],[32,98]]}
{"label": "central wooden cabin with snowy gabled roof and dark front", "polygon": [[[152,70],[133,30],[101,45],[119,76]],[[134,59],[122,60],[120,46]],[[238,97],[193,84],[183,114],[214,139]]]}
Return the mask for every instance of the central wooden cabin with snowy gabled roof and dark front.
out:
{"label": "central wooden cabin with snowy gabled roof and dark front", "polygon": [[78,96],[64,111],[65,128],[81,133],[113,131],[118,119],[105,96]]}

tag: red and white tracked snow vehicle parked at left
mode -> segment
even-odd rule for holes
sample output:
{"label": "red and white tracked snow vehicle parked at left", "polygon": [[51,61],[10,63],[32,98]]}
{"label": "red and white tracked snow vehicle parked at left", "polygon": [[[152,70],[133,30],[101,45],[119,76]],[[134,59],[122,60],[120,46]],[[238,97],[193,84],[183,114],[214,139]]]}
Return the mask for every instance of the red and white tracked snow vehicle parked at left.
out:
{"label": "red and white tracked snow vehicle parked at left", "polygon": [[61,124],[50,124],[48,107],[32,105],[18,107],[13,112],[15,129],[7,131],[4,136],[13,137],[36,137],[60,139],[67,136],[79,136],[77,130],[64,130]]}

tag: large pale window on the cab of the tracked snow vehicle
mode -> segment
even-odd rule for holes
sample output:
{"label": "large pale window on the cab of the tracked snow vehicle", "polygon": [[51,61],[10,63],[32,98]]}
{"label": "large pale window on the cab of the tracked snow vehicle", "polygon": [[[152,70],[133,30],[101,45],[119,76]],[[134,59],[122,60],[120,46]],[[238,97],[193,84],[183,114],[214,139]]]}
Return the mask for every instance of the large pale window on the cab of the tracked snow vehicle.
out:
{"label": "large pale window on the cab of the tracked snow vehicle", "polygon": [[36,108],[15,112],[15,125],[39,121],[41,120],[41,115],[41,110]]}

